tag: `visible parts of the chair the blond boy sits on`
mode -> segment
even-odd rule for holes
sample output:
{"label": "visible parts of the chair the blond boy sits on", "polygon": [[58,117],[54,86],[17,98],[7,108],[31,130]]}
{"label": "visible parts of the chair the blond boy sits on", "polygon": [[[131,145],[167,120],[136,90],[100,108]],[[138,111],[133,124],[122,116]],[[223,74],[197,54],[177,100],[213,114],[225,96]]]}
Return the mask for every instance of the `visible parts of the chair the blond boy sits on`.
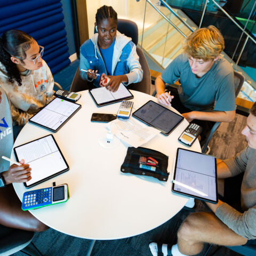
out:
{"label": "visible parts of the chair the blond boy sits on", "polygon": [[[235,82],[235,97],[237,97],[238,93],[240,92],[243,84],[244,84],[244,76],[240,73],[238,73],[237,71],[234,70],[234,82]],[[206,139],[206,142],[203,146],[202,149],[202,153],[205,153],[207,151],[207,147],[212,139],[212,135],[214,134],[214,132],[218,129],[218,127],[220,126],[221,122],[216,122],[211,129],[211,132],[209,134],[209,136]]]}

